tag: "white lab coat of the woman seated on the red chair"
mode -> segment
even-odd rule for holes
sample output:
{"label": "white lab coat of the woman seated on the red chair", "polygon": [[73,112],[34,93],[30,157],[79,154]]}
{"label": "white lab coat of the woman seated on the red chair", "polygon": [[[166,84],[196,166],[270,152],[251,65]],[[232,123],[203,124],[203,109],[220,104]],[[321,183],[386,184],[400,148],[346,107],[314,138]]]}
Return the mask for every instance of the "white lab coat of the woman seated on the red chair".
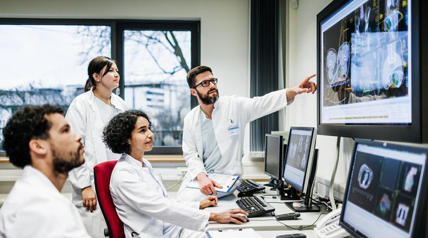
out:
{"label": "white lab coat of the woman seated on the red chair", "polygon": [[209,212],[199,210],[199,202],[168,198],[162,181],[146,159],[141,162],[123,154],[113,169],[110,193],[117,214],[124,224],[125,236],[179,237],[182,227],[203,231]]}

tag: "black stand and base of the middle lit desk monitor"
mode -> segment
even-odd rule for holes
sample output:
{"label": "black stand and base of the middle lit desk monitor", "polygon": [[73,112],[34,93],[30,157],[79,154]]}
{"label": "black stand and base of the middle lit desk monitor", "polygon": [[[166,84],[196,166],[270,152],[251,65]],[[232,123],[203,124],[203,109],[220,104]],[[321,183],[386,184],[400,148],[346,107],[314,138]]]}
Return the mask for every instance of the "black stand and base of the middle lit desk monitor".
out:
{"label": "black stand and base of the middle lit desk monitor", "polygon": [[[320,207],[312,203],[312,193],[314,192],[315,174],[317,174],[318,149],[315,150],[312,162],[311,174],[309,176],[308,189],[306,190],[305,202],[301,207],[293,207],[293,202],[286,202],[286,205],[295,212],[319,212]],[[282,200],[282,197],[281,197]]]}

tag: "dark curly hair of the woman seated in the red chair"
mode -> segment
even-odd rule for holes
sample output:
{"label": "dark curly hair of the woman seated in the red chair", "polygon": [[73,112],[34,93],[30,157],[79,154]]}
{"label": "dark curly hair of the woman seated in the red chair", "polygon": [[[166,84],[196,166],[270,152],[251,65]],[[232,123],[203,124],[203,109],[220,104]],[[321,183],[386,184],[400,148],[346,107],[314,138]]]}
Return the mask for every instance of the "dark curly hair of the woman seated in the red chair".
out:
{"label": "dark curly hair of the woman seated in the red chair", "polygon": [[103,141],[113,153],[130,154],[131,145],[128,141],[131,139],[132,130],[138,116],[142,116],[149,121],[149,129],[153,131],[152,122],[149,116],[140,110],[127,110],[115,115],[103,130]]}

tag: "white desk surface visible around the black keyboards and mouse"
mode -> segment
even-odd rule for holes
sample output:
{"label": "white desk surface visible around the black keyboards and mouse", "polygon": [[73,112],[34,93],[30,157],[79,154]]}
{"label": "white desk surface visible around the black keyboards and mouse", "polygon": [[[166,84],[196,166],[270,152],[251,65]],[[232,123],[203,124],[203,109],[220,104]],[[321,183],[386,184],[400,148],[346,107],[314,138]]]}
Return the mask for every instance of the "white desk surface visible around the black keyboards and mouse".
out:
{"label": "white desk surface visible around the black keyboards and mouse", "polygon": [[[230,208],[236,208],[238,205],[236,204],[236,200],[240,199],[236,195],[238,192],[236,191],[235,194],[220,198],[219,199],[219,205],[216,207],[208,207],[204,210],[208,212],[222,212]],[[266,193],[257,193],[255,195],[257,196],[263,196],[263,195],[273,195],[275,194],[275,191],[269,191],[269,188],[266,189]],[[272,207],[275,208],[275,214],[284,214],[284,213],[290,213],[293,212],[289,207],[287,207],[284,204],[284,201],[278,199],[273,199],[271,197],[264,197],[265,201],[268,202]],[[287,201],[289,202],[289,201]],[[220,224],[220,223],[214,223],[210,222],[208,225],[208,230],[213,229],[231,229],[231,228],[253,228],[256,231],[274,231],[274,230],[291,230],[292,228],[298,228],[300,226],[310,226],[312,225],[318,218],[318,221],[325,215],[321,213],[327,213],[325,210],[321,209],[321,212],[308,212],[308,213],[300,213],[300,219],[297,220],[283,220],[280,221],[284,224],[279,223],[275,220],[275,216],[271,215],[270,213],[264,214],[262,216],[252,217],[249,218],[249,222],[244,223],[243,225],[238,224]],[[321,216],[321,217],[320,217]],[[316,223],[315,223],[316,224]],[[309,230],[312,230],[313,228],[309,228]],[[292,233],[299,233],[299,230],[292,230],[295,232]],[[315,235],[315,234],[314,234]]]}

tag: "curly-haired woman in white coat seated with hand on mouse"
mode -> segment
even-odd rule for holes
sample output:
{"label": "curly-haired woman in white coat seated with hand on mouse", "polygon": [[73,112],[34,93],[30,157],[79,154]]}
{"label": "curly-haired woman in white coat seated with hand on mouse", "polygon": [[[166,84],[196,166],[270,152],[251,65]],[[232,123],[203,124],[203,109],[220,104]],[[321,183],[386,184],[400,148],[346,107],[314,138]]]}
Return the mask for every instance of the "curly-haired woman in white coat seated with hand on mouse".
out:
{"label": "curly-haired woman in white coat seated with hand on mouse", "polygon": [[208,221],[242,224],[248,215],[236,208],[222,213],[201,211],[217,205],[217,197],[201,202],[170,199],[162,180],[144,153],[153,149],[152,123],[146,113],[129,110],[115,115],[103,130],[103,139],[122,157],[110,178],[110,193],[123,222],[125,237],[206,237]]}

